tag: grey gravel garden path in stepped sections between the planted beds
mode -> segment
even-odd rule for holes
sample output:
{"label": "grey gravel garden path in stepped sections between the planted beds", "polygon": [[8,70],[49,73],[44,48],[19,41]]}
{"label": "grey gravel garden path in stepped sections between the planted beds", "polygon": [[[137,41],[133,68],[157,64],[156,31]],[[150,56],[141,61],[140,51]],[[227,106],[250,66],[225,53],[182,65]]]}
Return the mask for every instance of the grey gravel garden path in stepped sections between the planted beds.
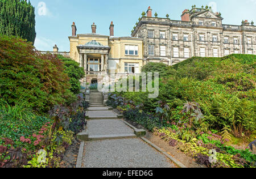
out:
{"label": "grey gravel garden path in stepped sections between the planted beds", "polygon": [[166,156],[134,134],[108,107],[90,107],[82,168],[174,168]]}

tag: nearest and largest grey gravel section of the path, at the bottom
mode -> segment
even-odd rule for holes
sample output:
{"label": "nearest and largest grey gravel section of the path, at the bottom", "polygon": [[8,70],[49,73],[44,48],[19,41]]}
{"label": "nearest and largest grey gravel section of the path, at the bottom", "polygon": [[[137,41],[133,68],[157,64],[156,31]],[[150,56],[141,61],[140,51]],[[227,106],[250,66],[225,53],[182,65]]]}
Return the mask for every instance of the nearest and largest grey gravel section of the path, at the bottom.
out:
{"label": "nearest and largest grey gravel section of the path, at the bottom", "polygon": [[141,139],[85,142],[83,168],[174,168],[163,154]]}

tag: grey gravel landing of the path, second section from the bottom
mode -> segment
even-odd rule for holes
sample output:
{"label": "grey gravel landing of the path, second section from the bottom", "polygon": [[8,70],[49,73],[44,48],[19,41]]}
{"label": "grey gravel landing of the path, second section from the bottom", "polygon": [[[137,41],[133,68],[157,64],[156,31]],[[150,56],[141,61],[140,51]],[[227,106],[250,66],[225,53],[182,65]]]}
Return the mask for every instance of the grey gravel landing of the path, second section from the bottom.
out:
{"label": "grey gravel landing of the path, second section from the bottom", "polygon": [[120,120],[89,120],[89,135],[134,134],[134,130]]}

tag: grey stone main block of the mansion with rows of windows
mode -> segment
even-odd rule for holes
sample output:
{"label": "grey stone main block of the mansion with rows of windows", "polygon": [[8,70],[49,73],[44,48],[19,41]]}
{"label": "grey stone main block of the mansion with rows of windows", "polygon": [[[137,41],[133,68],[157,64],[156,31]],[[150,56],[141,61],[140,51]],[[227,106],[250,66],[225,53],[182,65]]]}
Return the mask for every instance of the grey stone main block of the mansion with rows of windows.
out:
{"label": "grey stone main block of the mansion with rows of windows", "polygon": [[143,39],[143,59],[168,65],[198,57],[256,54],[256,27],[245,20],[241,25],[222,24],[221,14],[212,8],[184,10],[181,20],[152,17],[152,10],[132,31]]}

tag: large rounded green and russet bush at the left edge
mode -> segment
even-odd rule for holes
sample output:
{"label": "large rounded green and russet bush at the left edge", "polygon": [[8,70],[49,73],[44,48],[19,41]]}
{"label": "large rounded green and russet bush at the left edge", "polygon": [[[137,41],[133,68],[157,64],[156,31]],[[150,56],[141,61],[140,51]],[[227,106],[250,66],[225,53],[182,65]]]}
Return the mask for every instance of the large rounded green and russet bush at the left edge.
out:
{"label": "large rounded green and russet bush at the left edge", "polygon": [[75,99],[57,56],[36,52],[26,40],[0,36],[0,59],[0,96],[8,104],[43,113],[52,105]]}

